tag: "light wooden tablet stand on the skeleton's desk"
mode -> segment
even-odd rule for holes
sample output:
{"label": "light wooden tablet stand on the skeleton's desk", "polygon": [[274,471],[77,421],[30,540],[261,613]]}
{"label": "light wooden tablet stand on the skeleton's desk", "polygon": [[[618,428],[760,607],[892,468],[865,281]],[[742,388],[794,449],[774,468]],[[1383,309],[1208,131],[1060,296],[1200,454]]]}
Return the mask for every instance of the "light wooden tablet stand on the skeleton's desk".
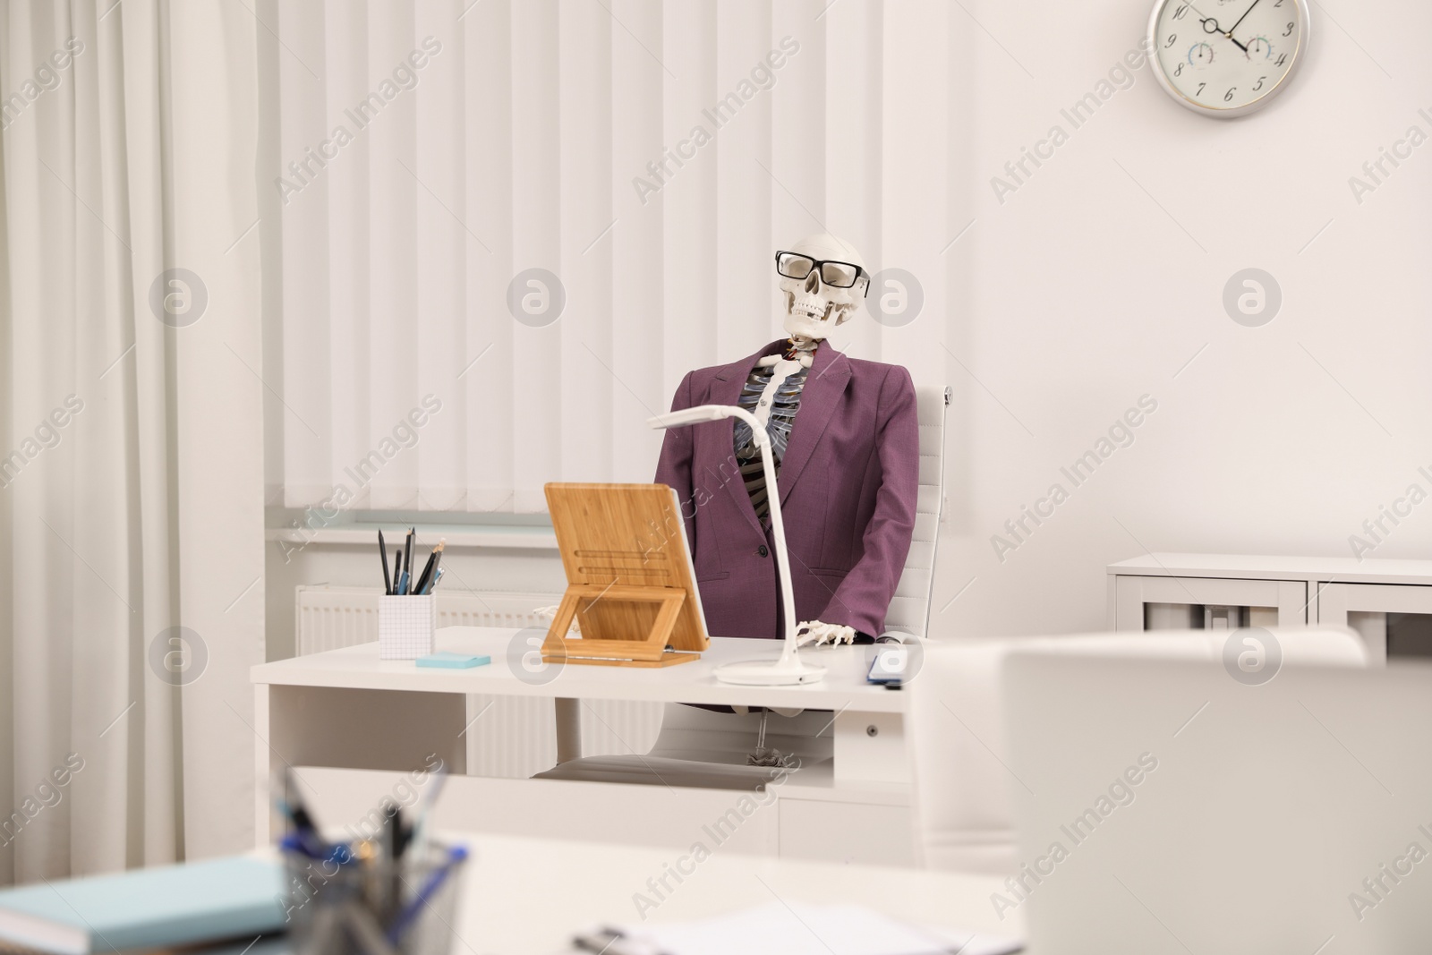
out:
{"label": "light wooden tablet stand on the skeleton's desk", "polygon": [[[567,593],[543,660],[632,667],[699,660],[710,641],[676,493],[664,484],[546,490]],[[573,619],[580,637],[567,634]]]}

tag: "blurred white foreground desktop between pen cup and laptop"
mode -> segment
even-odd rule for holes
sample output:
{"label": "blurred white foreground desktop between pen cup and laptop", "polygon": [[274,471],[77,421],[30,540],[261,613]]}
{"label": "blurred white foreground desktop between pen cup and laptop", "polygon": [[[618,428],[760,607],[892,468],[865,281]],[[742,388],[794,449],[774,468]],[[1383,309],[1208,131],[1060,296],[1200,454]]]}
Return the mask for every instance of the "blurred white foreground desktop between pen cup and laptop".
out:
{"label": "blurred white foreground desktop between pen cup and laptop", "polygon": [[[650,893],[647,879],[677,858],[663,849],[601,843],[477,833],[445,838],[474,850],[453,926],[461,938],[454,952],[571,952],[569,942],[579,929],[640,924],[632,896]],[[1007,912],[1001,922],[990,905],[991,893],[1001,889],[992,876],[792,862],[716,849],[649,912],[649,921],[706,918],[776,901],[848,902],[915,924],[1020,938],[1020,913]]]}

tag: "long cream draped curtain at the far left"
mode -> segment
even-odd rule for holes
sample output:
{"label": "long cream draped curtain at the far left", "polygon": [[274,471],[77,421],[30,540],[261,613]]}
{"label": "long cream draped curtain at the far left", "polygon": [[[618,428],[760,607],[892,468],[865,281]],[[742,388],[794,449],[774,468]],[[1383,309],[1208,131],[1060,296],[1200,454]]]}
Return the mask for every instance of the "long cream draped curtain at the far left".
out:
{"label": "long cream draped curtain at the far left", "polygon": [[0,881],[252,845],[258,29],[0,0]]}

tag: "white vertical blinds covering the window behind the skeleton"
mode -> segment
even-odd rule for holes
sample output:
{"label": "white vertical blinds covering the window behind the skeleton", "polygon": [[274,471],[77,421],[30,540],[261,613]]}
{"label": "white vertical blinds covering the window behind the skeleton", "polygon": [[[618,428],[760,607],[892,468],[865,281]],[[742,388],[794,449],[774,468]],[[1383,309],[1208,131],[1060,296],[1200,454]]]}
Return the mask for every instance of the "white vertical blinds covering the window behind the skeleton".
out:
{"label": "white vertical blinds covering the window behind the skeleton", "polygon": [[[948,90],[972,69],[948,4],[328,0],[275,14],[281,132],[261,168],[282,209],[284,408],[269,494],[316,505],[311,523],[538,511],[546,481],[649,481],[660,437],[644,420],[686,369],[780,335],[772,256],[812,232],[922,286],[918,324],[862,315],[835,344],[944,384],[948,251],[968,225],[948,185],[967,126]],[[558,276],[556,321],[557,288],[530,269]]]}

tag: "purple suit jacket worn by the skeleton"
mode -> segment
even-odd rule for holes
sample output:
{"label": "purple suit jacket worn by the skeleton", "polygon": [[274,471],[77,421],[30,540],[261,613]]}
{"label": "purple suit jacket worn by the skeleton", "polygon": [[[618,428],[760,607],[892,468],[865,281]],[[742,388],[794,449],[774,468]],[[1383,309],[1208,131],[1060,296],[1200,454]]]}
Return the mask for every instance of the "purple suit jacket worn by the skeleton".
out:
{"label": "purple suit jacket worn by the skeleton", "polygon": [[[763,355],[689,372],[672,411],[733,405]],[[736,467],[735,421],[672,428],[656,481],[676,488],[696,581],[715,636],[780,637],[773,541],[756,520]],[[915,527],[919,421],[915,385],[899,365],[815,354],[780,464],[796,620],[879,636]]]}

